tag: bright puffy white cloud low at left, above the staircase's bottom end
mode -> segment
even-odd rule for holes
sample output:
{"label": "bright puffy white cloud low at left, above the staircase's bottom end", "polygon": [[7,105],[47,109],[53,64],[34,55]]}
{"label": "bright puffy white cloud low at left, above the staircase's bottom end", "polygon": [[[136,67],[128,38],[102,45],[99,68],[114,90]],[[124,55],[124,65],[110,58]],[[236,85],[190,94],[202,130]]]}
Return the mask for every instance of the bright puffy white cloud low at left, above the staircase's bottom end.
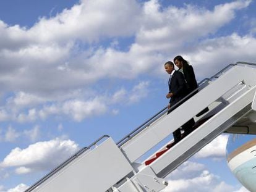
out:
{"label": "bright puffy white cloud low at left, above the staircase's bottom end", "polygon": [[1,162],[1,167],[17,167],[16,173],[49,170],[59,165],[77,151],[74,141],[56,138],[50,141],[30,144],[28,148],[15,148]]}

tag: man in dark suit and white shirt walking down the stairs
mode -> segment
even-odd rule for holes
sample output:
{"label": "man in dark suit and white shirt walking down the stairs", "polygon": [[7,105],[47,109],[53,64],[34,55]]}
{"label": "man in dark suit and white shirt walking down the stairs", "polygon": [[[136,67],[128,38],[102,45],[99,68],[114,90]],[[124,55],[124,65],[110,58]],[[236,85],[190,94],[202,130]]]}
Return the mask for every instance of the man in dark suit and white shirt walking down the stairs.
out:
{"label": "man in dark suit and white shirt walking down the stairs", "polygon": [[[186,81],[181,72],[174,70],[174,64],[171,61],[168,61],[164,64],[165,71],[170,75],[168,85],[169,93],[166,94],[166,98],[170,99],[168,104],[168,114],[174,110],[174,104],[181,101],[187,94]],[[180,104],[179,104],[180,105]],[[178,106],[176,106],[178,107]],[[175,108],[176,108],[175,107]],[[179,128],[173,132],[174,143],[168,144],[167,148],[171,148],[174,144],[178,143],[181,140],[181,131]]]}

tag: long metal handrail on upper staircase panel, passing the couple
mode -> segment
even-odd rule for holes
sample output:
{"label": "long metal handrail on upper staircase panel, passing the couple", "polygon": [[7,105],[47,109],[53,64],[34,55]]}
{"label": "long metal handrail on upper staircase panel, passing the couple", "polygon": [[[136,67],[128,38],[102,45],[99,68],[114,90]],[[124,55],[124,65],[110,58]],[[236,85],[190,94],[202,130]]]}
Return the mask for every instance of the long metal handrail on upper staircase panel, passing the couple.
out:
{"label": "long metal handrail on upper staircase panel, passing the couple", "polygon": [[[122,138],[120,141],[118,141],[116,144],[117,146],[120,148],[123,144],[125,144],[127,141],[129,141],[131,138],[133,138],[135,135],[137,135],[138,133],[140,133],[140,131],[144,130],[145,128],[148,127],[148,125],[150,125],[152,122],[155,122],[155,120],[159,119],[162,115],[164,115],[167,111],[171,111],[171,109],[174,109],[174,107],[179,106],[182,102],[186,101],[187,99],[190,98],[190,96],[192,96],[193,94],[197,93],[197,91],[199,91],[200,87],[202,87],[203,85],[206,85],[209,81],[211,81],[213,78],[218,78],[218,76],[223,73],[225,70],[229,69],[230,67],[234,67],[237,64],[229,64],[226,67],[224,67],[224,69],[220,70],[220,72],[216,73],[215,75],[213,75],[211,78],[205,78],[202,81],[200,81],[200,83],[198,83],[198,88],[196,88],[194,91],[190,92],[189,94],[187,94],[186,97],[182,98],[179,102],[177,102],[176,104],[174,104],[173,106],[171,106],[170,109],[166,110],[167,107],[164,107],[160,112],[158,112],[157,114],[153,115],[153,117],[151,117],[150,119],[148,119],[145,123],[142,123],[142,125],[140,125],[138,128],[135,128],[134,131],[130,132],[128,135],[124,136],[124,138]],[[205,81],[206,80],[206,81]]]}

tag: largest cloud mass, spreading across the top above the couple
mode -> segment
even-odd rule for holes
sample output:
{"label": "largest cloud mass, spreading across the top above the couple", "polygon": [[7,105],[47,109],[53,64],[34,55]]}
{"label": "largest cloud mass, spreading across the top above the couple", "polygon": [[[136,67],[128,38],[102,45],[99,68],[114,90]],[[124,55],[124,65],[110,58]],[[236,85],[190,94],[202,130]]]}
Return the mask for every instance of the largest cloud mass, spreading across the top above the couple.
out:
{"label": "largest cloud mass, spreading across the top above the couple", "polygon": [[[250,1],[234,1],[207,10],[193,6],[165,8],[154,0],[145,4],[134,0],[90,0],[81,1],[56,17],[42,18],[30,29],[1,22],[4,49],[0,48],[0,63],[4,70],[0,81],[7,83],[3,86],[6,90],[21,90],[15,102],[29,104],[106,77],[134,78],[155,71],[156,64],[169,57],[169,52],[182,50],[185,41],[214,33],[249,4]],[[111,45],[95,48],[91,44],[81,50],[74,43],[119,36],[136,37],[129,51],[118,51]],[[98,64],[102,70],[98,70]],[[37,97],[33,98],[31,92],[38,93]]]}

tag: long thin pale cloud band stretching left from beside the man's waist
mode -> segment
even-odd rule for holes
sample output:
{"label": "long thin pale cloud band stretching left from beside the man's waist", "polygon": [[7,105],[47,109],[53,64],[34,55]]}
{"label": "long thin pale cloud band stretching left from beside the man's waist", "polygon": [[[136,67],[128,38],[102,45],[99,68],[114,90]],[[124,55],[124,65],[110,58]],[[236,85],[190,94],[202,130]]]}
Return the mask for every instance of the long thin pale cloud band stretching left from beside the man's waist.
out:
{"label": "long thin pale cloud band stretching left from beside the man's waist", "polygon": [[[19,123],[45,120],[51,115],[69,117],[76,122],[80,122],[85,118],[108,112],[112,105],[139,102],[148,95],[149,85],[149,81],[139,81],[138,84],[134,85],[129,90],[121,88],[115,93],[103,91],[104,93],[101,93],[100,96],[94,96],[93,94],[93,96],[90,96],[88,99],[83,98],[79,94],[75,94],[74,99],[61,99],[61,101],[56,99],[51,102],[46,102],[46,104],[43,99],[39,99],[32,94],[19,93],[19,96],[7,99],[9,102],[6,104],[6,109],[9,109],[9,114],[6,115],[9,116],[11,120]],[[33,98],[35,100],[33,100]],[[24,106],[26,106],[25,109]],[[32,106],[32,108],[29,108],[29,106]],[[33,133],[27,131],[25,135],[28,136],[28,133],[34,135],[34,137],[35,134],[38,135],[38,130],[33,131]]]}

